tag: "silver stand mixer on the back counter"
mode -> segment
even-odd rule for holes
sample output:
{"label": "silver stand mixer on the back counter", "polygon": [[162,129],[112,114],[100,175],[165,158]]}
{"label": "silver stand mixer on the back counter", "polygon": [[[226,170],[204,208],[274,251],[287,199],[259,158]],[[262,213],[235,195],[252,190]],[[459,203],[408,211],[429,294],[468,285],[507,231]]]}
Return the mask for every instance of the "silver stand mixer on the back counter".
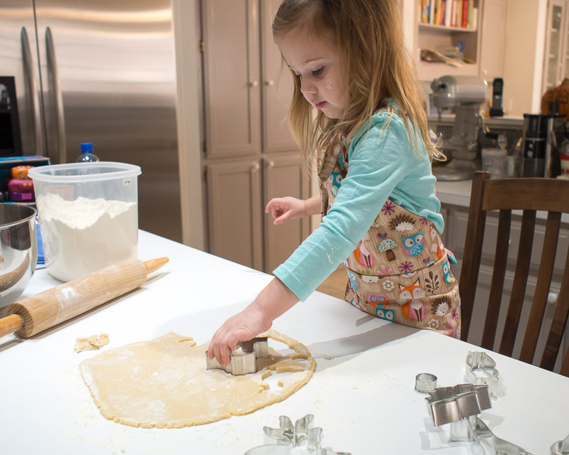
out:
{"label": "silver stand mixer on the back counter", "polygon": [[442,139],[441,148],[448,164],[435,166],[432,173],[440,181],[472,178],[477,168],[479,109],[486,102],[487,84],[477,76],[442,76],[431,82],[432,105],[439,119],[443,109],[454,108],[454,126],[450,139]]}

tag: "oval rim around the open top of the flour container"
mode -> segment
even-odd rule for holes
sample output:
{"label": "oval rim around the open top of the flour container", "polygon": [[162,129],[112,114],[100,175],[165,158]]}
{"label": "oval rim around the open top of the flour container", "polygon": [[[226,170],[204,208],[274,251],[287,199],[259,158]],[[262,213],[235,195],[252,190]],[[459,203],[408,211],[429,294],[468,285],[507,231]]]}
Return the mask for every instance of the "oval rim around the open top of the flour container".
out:
{"label": "oval rim around the open top of the flour container", "polygon": [[28,177],[50,183],[74,183],[132,178],[141,173],[140,166],[134,164],[95,161],[38,166],[28,171]]}

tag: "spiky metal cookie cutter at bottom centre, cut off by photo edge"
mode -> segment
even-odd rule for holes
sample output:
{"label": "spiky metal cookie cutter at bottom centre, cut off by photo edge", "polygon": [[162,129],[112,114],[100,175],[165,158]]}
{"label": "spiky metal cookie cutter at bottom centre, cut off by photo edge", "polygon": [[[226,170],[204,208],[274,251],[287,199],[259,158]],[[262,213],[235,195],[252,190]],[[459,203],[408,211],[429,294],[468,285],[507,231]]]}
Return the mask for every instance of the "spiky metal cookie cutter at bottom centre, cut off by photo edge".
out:
{"label": "spiky metal cookie cutter at bottom centre, cut off by photo edge", "polygon": [[[351,455],[336,452],[329,447],[321,447],[322,429],[314,427],[314,415],[307,414],[292,424],[289,417],[279,417],[280,427],[264,427],[265,444],[245,452],[245,455],[289,455],[294,447],[306,446],[307,451],[316,455]],[[294,452],[296,453],[296,452]]]}

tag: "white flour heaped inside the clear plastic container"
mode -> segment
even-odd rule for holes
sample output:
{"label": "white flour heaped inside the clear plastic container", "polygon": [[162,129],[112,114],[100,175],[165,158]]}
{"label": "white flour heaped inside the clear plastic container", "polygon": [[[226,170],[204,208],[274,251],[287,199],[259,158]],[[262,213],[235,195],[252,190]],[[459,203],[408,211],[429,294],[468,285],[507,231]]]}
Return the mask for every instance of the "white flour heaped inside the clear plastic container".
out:
{"label": "white flour heaped inside the clear plastic container", "polygon": [[134,202],[38,197],[48,273],[68,282],[138,255],[138,206]]}

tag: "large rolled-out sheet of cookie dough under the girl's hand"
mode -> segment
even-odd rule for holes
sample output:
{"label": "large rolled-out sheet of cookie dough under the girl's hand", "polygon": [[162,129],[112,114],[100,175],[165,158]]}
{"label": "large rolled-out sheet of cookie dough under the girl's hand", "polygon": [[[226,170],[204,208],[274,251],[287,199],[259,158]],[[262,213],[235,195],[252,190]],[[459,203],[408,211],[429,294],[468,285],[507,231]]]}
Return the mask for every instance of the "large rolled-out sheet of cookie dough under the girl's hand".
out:
{"label": "large rolled-out sheet of cookie dough under the girl's hand", "polygon": [[[269,358],[257,359],[257,373],[251,375],[206,370],[208,343],[196,346],[191,338],[173,332],[107,350],[83,360],[79,368],[107,419],[144,428],[207,424],[285,400],[312,377],[316,360],[306,346],[277,331],[262,336],[285,343],[294,352],[281,355],[270,348]],[[279,386],[284,385],[270,387],[264,379],[271,370],[278,377],[280,363],[294,371],[280,381]]]}

